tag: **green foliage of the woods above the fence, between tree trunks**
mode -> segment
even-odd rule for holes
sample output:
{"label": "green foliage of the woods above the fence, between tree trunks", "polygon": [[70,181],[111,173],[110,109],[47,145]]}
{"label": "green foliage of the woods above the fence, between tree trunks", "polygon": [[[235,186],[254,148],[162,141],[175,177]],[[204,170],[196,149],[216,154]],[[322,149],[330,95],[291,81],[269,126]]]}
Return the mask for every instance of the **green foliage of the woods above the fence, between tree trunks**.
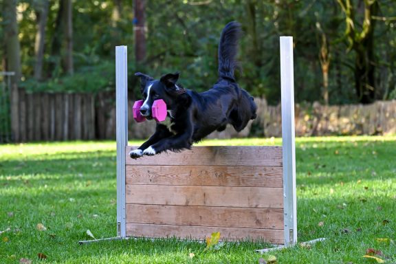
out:
{"label": "green foliage of the woods above the fence, between tree trunks", "polygon": [[[44,81],[32,81],[36,14],[34,1],[19,1],[21,56],[24,87],[31,91],[99,91],[109,89],[113,76],[101,75],[102,64],[114,63],[115,45],[129,46],[129,62],[134,65],[133,1],[121,1],[120,19],[113,19],[116,1],[73,1],[74,69],[76,77],[65,76],[63,54],[52,55],[59,1],[50,0],[45,34]],[[357,6],[359,1],[353,0]],[[362,27],[361,10],[356,9],[356,27]],[[375,20],[375,61],[377,98],[388,94],[395,72],[396,12],[392,0],[380,1],[380,18]],[[294,80],[297,102],[322,100],[322,71],[318,59],[320,32],[329,41],[330,103],[358,100],[355,94],[355,55],[344,38],[344,14],[336,1],[328,0],[230,0],[230,1],[148,1],[146,2],[147,58],[131,68],[158,78],[168,72],[181,72],[181,83],[203,91],[217,80],[217,45],[220,32],[229,21],[243,25],[236,76],[241,87],[254,96],[264,96],[271,104],[280,100],[278,36],[294,36]],[[1,36],[1,30],[0,30]],[[64,46],[64,41],[62,47]],[[0,49],[0,56],[1,56]],[[1,67],[1,66],[0,66]],[[110,66],[109,66],[110,67]],[[87,72],[87,69],[89,71]],[[89,83],[85,80],[91,78]],[[104,78],[108,78],[107,81]],[[138,88],[130,87],[133,96]]]}

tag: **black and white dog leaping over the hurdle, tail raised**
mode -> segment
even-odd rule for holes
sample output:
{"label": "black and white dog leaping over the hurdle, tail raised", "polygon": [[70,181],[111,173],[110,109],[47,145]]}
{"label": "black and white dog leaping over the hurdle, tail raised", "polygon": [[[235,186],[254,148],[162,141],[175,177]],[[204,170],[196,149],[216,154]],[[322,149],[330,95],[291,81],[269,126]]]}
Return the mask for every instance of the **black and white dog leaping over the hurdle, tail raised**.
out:
{"label": "black and white dog leaping over the hurdle, tail raised", "polygon": [[140,72],[135,74],[140,77],[144,98],[140,113],[152,119],[151,106],[155,100],[162,99],[168,115],[164,122],[157,122],[155,133],[142,146],[129,153],[132,158],[181,151],[213,131],[223,131],[227,124],[239,132],[249,120],[256,118],[252,96],[241,89],[234,78],[240,34],[239,23],[225,25],[219,43],[219,80],[208,91],[197,93],[184,89],[177,84],[178,72],[166,74],[159,80]]}

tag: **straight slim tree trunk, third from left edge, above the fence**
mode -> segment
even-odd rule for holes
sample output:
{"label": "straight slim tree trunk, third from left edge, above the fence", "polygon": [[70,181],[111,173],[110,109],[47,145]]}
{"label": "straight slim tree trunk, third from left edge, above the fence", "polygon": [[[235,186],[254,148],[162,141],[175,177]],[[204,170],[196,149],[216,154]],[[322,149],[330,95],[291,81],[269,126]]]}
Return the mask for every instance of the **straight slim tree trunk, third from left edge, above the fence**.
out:
{"label": "straight slim tree trunk, third from left edge, above the fence", "polygon": [[65,32],[65,72],[67,74],[74,74],[73,63],[73,7],[72,0],[63,0],[63,15],[64,32]]}

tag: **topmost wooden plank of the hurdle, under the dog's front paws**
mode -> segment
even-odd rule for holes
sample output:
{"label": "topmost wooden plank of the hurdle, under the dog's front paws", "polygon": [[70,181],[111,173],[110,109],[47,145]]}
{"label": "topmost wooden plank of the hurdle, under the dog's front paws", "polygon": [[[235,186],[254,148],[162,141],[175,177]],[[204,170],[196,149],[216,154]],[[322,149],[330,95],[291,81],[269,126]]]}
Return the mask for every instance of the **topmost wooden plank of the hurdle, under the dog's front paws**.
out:
{"label": "topmost wooden plank of the hurdle, under the dog's front paws", "polygon": [[282,166],[281,146],[195,146],[180,153],[161,153],[131,159],[126,146],[126,165]]}

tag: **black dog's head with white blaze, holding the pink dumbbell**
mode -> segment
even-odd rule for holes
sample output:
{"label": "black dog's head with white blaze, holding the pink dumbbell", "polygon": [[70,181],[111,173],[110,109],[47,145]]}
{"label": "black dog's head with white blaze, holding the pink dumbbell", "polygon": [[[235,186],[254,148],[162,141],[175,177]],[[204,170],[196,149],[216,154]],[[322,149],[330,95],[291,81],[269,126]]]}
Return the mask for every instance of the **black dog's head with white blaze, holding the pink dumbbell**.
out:
{"label": "black dog's head with white blaze, holding the pink dumbbell", "polygon": [[151,76],[135,73],[135,76],[140,77],[140,91],[143,96],[143,104],[140,107],[140,113],[147,119],[153,118],[151,115],[151,107],[155,100],[162,99],[166,103],[168,109],[172,109],[175,100],[181,94],[186,93],[186,90],[177,85],[179,73],[165,74],[159,80],[155,80]]}

